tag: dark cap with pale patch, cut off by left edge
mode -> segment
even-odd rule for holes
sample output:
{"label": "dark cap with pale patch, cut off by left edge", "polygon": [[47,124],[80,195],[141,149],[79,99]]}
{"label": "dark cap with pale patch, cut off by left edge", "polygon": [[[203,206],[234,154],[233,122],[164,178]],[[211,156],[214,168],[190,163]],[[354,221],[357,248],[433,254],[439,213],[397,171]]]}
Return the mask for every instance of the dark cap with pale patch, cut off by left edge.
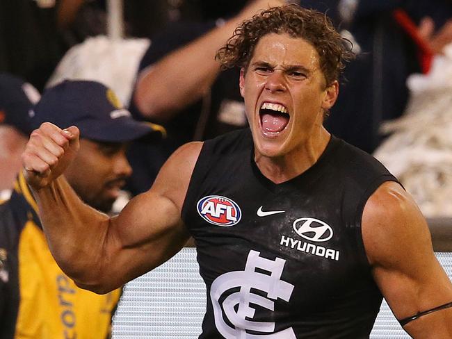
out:
{"label": "dark cap with pale patch, cut off by left edge", "polygon": [[29,135],[30,112],[40,99],[33,85],[11,74],[0,74],[0,124],[8,124]]}

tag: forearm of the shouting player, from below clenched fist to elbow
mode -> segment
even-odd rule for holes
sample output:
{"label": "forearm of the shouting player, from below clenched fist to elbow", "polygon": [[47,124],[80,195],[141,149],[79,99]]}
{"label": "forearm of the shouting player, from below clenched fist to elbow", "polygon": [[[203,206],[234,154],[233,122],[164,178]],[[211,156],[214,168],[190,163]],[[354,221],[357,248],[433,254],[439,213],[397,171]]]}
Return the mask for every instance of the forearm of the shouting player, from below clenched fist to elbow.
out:
{"label": "forearm of the shouting player, from below clenched fist to elbow", "polygon": [[91,283],[102,274],[109,217],[83,204],[63,176],[33,190],[49,249],[74,281]]}

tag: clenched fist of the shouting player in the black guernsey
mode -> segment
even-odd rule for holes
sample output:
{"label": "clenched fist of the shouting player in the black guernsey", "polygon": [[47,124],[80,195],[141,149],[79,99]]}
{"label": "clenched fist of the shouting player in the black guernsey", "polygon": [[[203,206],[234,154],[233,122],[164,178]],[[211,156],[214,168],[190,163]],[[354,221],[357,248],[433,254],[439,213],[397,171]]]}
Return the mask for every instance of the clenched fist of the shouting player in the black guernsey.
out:
{"label": "clenched fist of the shouting player in the black guernsey", "polygon": [[43,188],[62,174],[79,151],[80,131],[45,122],[31,133],[22,154],[24,176],[32,188]]}

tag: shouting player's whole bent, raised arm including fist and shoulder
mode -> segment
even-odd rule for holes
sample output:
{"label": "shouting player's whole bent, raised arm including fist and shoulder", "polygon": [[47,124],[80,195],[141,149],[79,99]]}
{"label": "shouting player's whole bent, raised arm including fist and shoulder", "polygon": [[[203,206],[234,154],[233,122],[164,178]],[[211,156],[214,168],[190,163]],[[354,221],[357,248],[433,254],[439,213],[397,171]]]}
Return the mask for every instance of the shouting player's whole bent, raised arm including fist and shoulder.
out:
{"label": "shouting player's whole bent, raised arm including fist and shoulder", "polygon": [[75,127],[42,124],[22,157],[24,172],[56,262],[81,288],[104,293],[161,265],[188,240],[180,212],[202,144],[178,149],[152,188],[111,218],[83,204],[60,176],[78,138]]}

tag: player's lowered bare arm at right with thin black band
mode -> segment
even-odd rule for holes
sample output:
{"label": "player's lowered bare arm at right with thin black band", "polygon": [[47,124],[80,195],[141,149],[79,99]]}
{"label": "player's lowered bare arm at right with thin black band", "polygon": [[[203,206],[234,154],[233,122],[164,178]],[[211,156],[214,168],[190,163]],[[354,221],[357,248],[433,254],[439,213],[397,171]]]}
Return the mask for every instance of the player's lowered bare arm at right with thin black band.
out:
{"label": "player's lowered bare arm at right with thin black band", "polygon": [[362,235],[373,276],[396,318],[406,321],[403,329],[415,339],[452,338],[452,308],[439,307],[452,302],[451,281],[426,221],[400,185],[384,183],[367,201]]}

